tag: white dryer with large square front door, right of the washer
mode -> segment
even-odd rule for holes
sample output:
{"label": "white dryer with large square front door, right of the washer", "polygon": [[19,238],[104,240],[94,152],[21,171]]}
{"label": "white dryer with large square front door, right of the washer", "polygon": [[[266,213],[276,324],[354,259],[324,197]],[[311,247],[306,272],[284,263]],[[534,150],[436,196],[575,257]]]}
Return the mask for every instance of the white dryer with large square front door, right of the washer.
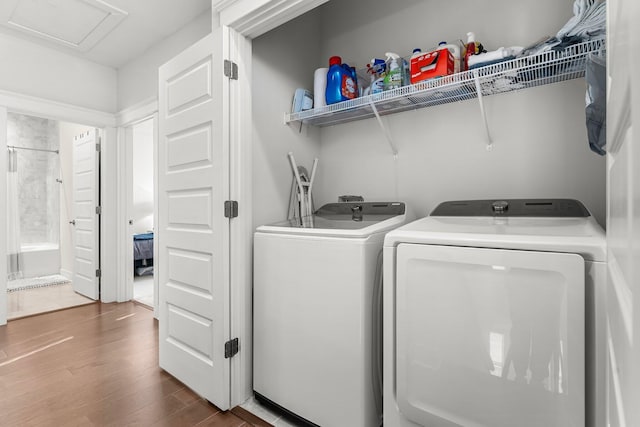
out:
{"label": "white dryer with large square front door, right of the washer", "polygon": [[605,255],[575,200],[446,202],[387,234],[385,427],[605,425]]}

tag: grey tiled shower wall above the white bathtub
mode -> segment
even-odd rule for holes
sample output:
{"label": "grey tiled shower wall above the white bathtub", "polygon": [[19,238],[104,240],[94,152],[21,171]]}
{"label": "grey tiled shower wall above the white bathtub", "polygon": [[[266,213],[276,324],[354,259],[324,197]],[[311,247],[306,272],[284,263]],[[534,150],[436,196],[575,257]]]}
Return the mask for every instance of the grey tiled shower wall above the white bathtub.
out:
{"label": "grey tiled shower wall above the white bathtub", "polygon": [[[57,150],[58,122],[9,113],[7,144]],[[18,150],[21,243],[58,243],[60,226],[60,159],[55,153]]]}

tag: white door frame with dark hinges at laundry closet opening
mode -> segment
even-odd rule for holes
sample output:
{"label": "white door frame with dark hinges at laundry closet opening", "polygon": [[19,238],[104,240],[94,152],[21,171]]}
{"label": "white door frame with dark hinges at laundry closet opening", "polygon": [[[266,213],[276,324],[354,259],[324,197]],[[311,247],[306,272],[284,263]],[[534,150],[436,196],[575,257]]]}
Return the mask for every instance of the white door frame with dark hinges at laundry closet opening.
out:
{"label": "white door frame with dark hinges at laundry closet opening", "polygon": [[241,351],[231,359],[231,406],[253,393],[252,44],[258,37],[329,0],[212,0],[212,26],[229,27],[229,60],[238,65],[230,88],[229,195],[239,206],[230,221],[231,337]]}

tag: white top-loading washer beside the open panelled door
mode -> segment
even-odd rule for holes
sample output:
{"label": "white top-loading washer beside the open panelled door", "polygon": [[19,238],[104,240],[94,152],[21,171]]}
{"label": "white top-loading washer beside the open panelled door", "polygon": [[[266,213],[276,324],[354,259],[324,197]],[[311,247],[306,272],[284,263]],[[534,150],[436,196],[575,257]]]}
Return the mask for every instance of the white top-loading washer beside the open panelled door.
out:
{"label": "white top-loading washer beside the open panelled door", "polygon": [[404,203],[332,203],[254,236],[256,398],[323,427],[382,414],[382,246]]}

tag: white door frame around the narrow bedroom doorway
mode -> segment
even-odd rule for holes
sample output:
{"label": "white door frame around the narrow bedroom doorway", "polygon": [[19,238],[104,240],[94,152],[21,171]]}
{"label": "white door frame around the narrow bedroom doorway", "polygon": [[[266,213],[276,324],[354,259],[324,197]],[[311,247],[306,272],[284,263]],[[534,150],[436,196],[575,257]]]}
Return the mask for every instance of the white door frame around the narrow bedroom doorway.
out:
{"label": "white door frame around the narrow bedroom doorway", "polygon": [[[118,289],[117,301],[133,299],[133,240],[129,219],[133,215],[133,127],[138,123],[153,119],[153,216],[158,218],[158,101],[147,100],[120,112],[117,116],[118,145],[117,161],[121,168],[116,183],[118,188],[117,247],[118,247]],[[153,239],[153,253],[158,253],[158,239]],[[158,276],[153,275],[153,317],[158,318]]]}

